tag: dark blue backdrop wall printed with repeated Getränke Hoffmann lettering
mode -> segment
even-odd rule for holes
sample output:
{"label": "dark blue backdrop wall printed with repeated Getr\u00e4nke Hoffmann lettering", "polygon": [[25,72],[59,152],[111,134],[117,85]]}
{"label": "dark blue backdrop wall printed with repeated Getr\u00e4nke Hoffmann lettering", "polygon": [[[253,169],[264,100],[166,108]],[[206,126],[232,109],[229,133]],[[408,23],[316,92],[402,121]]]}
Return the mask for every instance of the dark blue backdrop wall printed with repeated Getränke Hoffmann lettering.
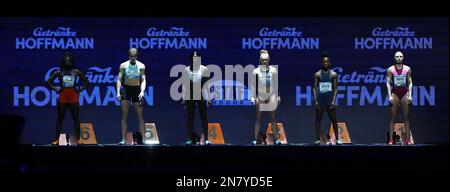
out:
{"label": "dark blue backdrop wall printed with repeated Getr\u00e4nke Hoffmann lettering", "polygon": [[[130,47],[146,64],[144,118],[155,122],[162,143],[185,141],[186,112],[170,97],[177,64],[193,50],[204,65],[257,65],[267,49],[278,65],[281,105],[277,113],[292,143],[314,140],[311,85],[321,52],[339,73],[337,116],[355,143],[386,139],[389,107],[386,69],[402,51],[414,83],[411,128],[416,142],[448,142],[448,18],[0,18],[0,112],[26,118],[23,143],[48,143],[54,135],[57,94],[44,87],[64,52],[90,79],[80,95],[82,122],[94,125],[99,143],[120,141],[115,78]],[[248,84],[224,81],[223,95],[245,93]],[[236,97],[236,93],[232,96]],[[399,111],[398,121],[401,121]],[[222,124],[227,143],[248,144],[255,119],[248,100],[216,100],[209,122]],[[196,130],[200,132],[196,113]],[[268,115],[264,118],[269,121]],[[323,127],[328,129],[328,121]],[[130,131],[137,130],[130,111]],[[265,126],[262,126],[265,127]],[[64,132],[72,130],[66,114]]]}

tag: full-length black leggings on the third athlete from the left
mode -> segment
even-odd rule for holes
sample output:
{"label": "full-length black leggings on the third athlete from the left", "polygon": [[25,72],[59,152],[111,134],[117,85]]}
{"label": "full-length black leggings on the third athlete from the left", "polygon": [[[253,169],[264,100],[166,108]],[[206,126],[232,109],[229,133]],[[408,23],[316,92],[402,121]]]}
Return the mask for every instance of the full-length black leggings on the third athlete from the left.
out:
{"label": "full-length black leggings on the third athlete from the left", "polygon": [[200,112],[200,118],[202,120],[202,129],[205,136],[205,140],[208,140],[208,119],[206,116],[206,101],[205,100],[186,100],[186,108],[188,112],[187,128],[190,140],[194,140],[194,113],[195,105],[197,104]]}

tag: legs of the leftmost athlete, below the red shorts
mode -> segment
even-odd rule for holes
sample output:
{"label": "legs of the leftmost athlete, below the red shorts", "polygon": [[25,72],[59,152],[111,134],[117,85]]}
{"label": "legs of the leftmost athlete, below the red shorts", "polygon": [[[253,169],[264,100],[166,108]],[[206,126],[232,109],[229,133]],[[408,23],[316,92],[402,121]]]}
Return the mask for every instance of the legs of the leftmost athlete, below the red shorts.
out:
{"label": "legs of the leftmost athlete, below the red shorts", "polygon": [[77,136],[77,140],[80,140],[80,106],[78,103],[61,103],[58,102],[57,105],[57,120],[56,120],[56,137],[55,140],[59,139],[59,134],[62,130],[62,124],[64,121],[64,116],[66,114],[67,108],[69,108],[72,115],[73,129]]}

